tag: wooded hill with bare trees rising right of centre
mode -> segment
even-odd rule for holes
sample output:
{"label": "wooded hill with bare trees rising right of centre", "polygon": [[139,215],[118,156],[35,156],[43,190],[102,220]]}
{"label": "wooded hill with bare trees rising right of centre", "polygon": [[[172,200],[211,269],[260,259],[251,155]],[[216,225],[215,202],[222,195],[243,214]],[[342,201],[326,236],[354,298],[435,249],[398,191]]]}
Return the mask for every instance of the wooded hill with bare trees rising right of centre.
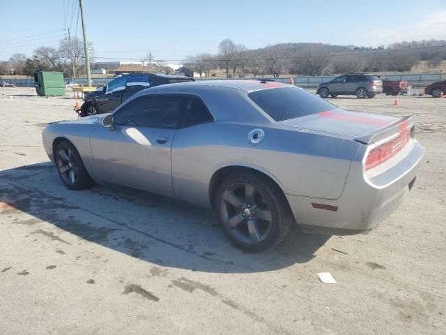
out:
{"label": "wooded hill with bare trees rising right of centre", "polygon": [[226,77],[324,75],[352,72],[410,71],[419,61],[439,66],[446,59],[446,40],[394,43],[384,47],[280,43],[249,50],[233,40],[222,40],[217,54],[193,54],[185,65],[201,75],[222,68]]}

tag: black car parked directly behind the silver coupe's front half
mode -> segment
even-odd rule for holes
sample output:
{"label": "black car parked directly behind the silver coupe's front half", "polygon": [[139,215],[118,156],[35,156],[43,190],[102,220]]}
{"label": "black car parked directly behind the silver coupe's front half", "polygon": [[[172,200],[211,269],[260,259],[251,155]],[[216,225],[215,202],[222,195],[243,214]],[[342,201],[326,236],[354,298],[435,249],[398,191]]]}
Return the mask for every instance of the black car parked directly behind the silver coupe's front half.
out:
{"label": "black car parked directly behind the silver coupe's front half", "polygon": [[[130,96],[148,87],[191,81],[194,81],[194,79],[180,75],[154,73],[120,75],[104,87],[98,87],[96,91],[84,96],[84,103],[80,108],[81,117],[112,112]],[[76,110],[76,112],[78,111]]]}

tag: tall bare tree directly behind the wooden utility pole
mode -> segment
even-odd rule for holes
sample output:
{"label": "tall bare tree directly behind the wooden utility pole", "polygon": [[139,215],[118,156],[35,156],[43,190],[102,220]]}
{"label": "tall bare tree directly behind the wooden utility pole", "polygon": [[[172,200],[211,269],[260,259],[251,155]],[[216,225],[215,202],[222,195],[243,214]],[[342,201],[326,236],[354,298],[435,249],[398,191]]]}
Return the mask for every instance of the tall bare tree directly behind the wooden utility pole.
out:
{"label": "tall bare tree directly behind the wooden utility pole", "polygon": [[[94,59],[93,45],[89,43],[90,61]],[[63,61],[68,61],[67,72],[76,77],[85,69],[85,49],[84,42],[77,37],[68,40],[68,37],[63,38],[59,44],[59,56]],[[74,70],[74,73],[73,73]]]}

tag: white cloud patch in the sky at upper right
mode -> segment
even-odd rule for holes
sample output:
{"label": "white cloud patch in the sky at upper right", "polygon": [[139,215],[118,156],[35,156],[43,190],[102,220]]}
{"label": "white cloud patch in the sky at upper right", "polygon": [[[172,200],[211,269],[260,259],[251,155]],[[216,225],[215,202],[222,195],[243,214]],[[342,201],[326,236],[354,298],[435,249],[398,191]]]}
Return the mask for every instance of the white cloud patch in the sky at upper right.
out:
{"label": "white cloud patch in the sky at upper right", "polygon": [[367,33],[367,45],[387,45],[402,40],[436,40],[446,39],[446,10],[421,17],[415,24],[394,27],[390,23],[385,28],[374,29]]}

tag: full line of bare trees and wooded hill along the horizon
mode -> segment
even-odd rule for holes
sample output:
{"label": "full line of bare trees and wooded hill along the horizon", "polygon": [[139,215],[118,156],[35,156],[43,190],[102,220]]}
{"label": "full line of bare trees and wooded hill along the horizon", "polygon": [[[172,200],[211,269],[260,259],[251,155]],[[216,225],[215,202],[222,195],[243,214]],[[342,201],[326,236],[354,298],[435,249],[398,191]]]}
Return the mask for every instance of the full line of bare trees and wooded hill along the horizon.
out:
{"label": "full line of bare trees and wooded hill along the horizon", "polygon": [[[322,43],[279,43],[249,50],[243,44],[225,39],[216,54],[197,53],[185,58],[184,65],[202,76],[224,69],[226,77],[246,75],[328,75],[352,72],[410,71],[419,61],[436,67],[446,59],[446,40],[420,40],[394,43],[384,47],[328,45]],[[89,45],[93,61],[93,46]],[[150,54],[146,64],[151,70],[172,72],[164,61],[153,61]],[[150,61],[150,62],[149,62]],[[0,61],[0,75],[33,75],[38,70],[61,71],[66,77],[84,75],[84,44],[79,38],[63,38],[59,47],[41,46],[32,57],[13,54],[9,61]]]}

